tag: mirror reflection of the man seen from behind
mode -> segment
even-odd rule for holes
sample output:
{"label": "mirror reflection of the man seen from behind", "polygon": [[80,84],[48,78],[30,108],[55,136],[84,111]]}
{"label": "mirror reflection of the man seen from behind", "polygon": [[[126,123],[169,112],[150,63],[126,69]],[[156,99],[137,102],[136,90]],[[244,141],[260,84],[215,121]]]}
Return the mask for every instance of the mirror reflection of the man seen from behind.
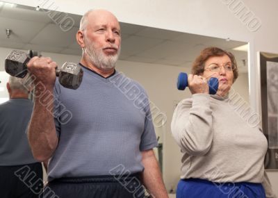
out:
{"label": "mirror reflection of the man seen from behind", "polygon": [[33,158],[26,135],[32,85],[10,76],[7,89],[10,99],[0,105],[0,197],[35,198],[42,190],[42,164]]}

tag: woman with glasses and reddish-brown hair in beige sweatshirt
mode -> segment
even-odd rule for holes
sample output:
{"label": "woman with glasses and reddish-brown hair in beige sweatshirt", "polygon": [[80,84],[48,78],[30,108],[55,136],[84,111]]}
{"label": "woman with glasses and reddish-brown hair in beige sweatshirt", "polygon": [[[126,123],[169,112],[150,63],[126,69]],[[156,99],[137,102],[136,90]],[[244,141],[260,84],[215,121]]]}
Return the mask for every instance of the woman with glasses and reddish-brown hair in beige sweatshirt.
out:
{"label": "woman with glasses and reddish-brown hair in beige sweatshirt", "polygon": [[[219,81],[215,95],[208,94],[211,77]],[[179,103],[171,126],[183,153],[177,198],[275,197],[263,167],[268,142],[229,98],[237,77],[234,55],[216,47],[204,49],[193,63],[193,95]]]}

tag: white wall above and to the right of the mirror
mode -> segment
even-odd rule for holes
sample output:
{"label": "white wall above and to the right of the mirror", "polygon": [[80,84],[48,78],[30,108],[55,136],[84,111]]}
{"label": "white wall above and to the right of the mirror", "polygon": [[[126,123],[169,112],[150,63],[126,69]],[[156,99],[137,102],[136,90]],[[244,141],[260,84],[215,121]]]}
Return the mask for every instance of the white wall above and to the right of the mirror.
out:
{"label": "white wall above and to the right of the mirror", "polygon": [[[22,3],[19,0],[8,0],[8,2],[38,6],[43,1],[26,0]],[[261,28],[255,32],[249,31],[245,24],[230,12],[225,4],[230,0],[176,0],[171,2],[167,0],[83,0],[82,3],[79,3],[78,9],[76,9],[76,1],[49,1],[49,3],[51,2],[58,6],[58,10],[66,13],[82,15],[88,8],[106,8],[115,13],[121,22],[250,42],[250,98],[254,109],[260,110],[259,67],[256,61],[256,51],[278,53],[277,1],[240,1],[261,19]],[[185,96],[186,94],[183,95],[183,97]],[[179,93],[179,97],[181,97],[181,93]],[[158,102],[163,103],[163,101]],[[170,107],[167,107],[167,111],[170,112]],[[167,140],[165,141],[165,147],[167,147]],[[165,174],[167,175],[167,173]],[[278,172],[270,172],[269,175],[278,194]]]}

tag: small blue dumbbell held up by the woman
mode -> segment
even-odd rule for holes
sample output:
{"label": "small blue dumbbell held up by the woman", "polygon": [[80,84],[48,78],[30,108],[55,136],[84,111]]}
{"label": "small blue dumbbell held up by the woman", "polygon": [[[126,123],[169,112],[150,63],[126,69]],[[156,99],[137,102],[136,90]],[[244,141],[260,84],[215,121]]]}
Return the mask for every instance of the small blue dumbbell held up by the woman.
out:
{"label": "small blue dumbbell held up by the woman", "polygon": [[[188,77],[186,73],[179,73],[178,81],[177,81],[177,88],[178,90],[185,90],[186,87],[188,87]],[[209,86],[209,94],[216,94],[218,91],[218,79],[211,78],[208,80],[208,86]]]}

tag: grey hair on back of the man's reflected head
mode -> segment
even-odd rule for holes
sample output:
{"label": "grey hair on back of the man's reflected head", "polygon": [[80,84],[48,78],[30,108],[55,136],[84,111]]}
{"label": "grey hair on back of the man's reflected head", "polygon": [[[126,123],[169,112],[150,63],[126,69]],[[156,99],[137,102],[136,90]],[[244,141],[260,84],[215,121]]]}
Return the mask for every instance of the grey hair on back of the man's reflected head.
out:
{"label": "grey hair on back of the man's reflected head", "polygon": [[28,92],[33,89],[33,83],[31,82],[31,77],[28,74],[23,79],[10,76],[8,83],[12,91],[17,90],[28,94]]}

